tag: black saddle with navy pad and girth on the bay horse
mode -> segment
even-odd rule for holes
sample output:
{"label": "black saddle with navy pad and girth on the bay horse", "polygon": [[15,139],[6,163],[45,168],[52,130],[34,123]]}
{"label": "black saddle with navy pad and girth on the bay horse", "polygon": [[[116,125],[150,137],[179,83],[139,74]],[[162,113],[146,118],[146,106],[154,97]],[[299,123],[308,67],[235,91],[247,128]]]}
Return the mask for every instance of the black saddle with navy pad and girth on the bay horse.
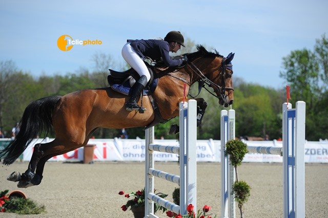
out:
{"label": "black saddle with navy pad and girth on the bay horse", "polygon": [[[162,116],[159,112],[157,102],[156,102],[155,98],[152,96],[152,94],[154,93],[154,91],[157,87],[157,84],[158,84],[158,76],[156,73],[154,73],[155,72],[154,67],[150,66],[147,62],[145,62],[145,63],[149,70],[149,73],[151,75],[151,79],[147,83],[142,95],[144,95],[144,96],[147,95],[149,97],[150,102],[153,107],[153,110],[155,112],[154,120],[144,128],[144,129],[147,129],[147,128],[157,125],[158,123],[166,123],[168,120],[164,120],[162,118]],[[118,72],[118,71],[109,69],[109,72],[110,72],[110,75],[107,76],[107,80],[108,80],[110,87],[112,88],[112,90],[114,92],[118,92],[118,93],[121,93],[124,95],[130,95],[132,86],[140,78],[139,74],[133,68],[130,68],[129,70],[124,71],[124,72]],[[141,98],[141,101],[142,101],[142,98]]]}

